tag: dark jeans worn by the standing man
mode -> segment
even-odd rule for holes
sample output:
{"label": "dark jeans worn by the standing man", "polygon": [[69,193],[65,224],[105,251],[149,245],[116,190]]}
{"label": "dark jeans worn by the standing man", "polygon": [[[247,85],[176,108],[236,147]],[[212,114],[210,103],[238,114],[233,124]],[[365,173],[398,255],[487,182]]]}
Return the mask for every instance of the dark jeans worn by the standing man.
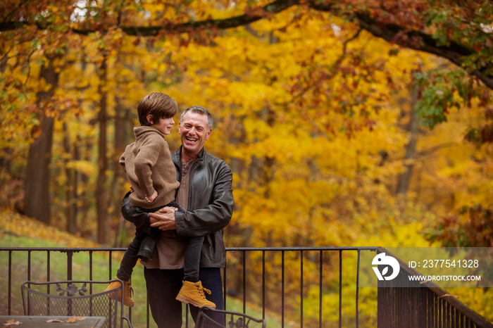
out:
{"label": "dark jeans worn by the standing man", "polygon": [[[151,306],[152,317],[158,328],[182,327],[182,303],[177,301],[177,296],[182,287],[183,270],[146,269],[144,277],[147,286],[147,298]],[[204,288],[211,290],[211,295],[206,298],[216,304],[216,308],[223,310],[223,279],[219,267],[201,267],[200,280]],[[195,320],[199,308],[189,306],[192,318]],[[219,313],[209,314],[213,320],[225,324],[224,315]]]}

